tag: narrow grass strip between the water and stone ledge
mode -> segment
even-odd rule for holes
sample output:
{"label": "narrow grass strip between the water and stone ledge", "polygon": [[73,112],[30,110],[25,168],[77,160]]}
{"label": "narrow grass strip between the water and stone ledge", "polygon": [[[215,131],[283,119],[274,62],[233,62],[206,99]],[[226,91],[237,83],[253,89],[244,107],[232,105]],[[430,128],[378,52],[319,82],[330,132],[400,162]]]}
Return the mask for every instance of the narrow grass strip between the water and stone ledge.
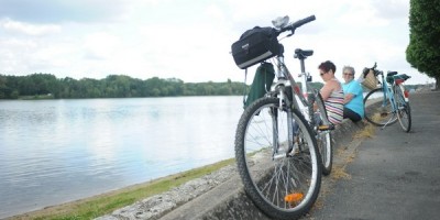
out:
{"label": "narrow grass strip between the water and stone ledge", "polygon": [[42,210],[23,213],[11,219],[52,219],[52,220],[77,220],[94,219],[112,211],[132,205],[144,198],[167,191],[188,180],[201,177],[218,170],[221,167],[234,163],[233,158],[207,165],[200,168],[183,172],[167,177],[151,180],[144,184],[134,185],[123,189],[110,191],[99,196],[63,204],[59,206],[46,207]]}

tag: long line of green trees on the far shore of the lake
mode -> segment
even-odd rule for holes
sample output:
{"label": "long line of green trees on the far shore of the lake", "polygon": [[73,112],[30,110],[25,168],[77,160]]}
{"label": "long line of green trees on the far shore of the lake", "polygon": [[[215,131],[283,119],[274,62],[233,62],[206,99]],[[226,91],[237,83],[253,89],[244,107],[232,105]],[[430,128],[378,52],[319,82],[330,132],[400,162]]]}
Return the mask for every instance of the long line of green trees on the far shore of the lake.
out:
{"label": "long line of green trees on the far shore of the lake", "polygon": [[172,96],[233,96],[243,95],[244,84],[184,82],[177,78],[153,77],[146,80],[125,75],[110,75],[103,79],[70,77],[56,78],[52,74],[28,76],[0,75],[0,99],[21,97],[65,98],[129,98]]}

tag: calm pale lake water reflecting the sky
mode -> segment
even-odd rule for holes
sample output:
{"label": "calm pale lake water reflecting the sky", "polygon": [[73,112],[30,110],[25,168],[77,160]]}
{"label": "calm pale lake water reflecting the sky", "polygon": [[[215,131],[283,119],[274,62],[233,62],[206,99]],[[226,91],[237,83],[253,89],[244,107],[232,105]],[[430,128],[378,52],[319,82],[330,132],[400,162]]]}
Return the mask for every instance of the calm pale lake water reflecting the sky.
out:
{"label": "calm pale lake water reflecting the sky", "polygon": [[0,218],[234,156],[242,97],[0,101]]}

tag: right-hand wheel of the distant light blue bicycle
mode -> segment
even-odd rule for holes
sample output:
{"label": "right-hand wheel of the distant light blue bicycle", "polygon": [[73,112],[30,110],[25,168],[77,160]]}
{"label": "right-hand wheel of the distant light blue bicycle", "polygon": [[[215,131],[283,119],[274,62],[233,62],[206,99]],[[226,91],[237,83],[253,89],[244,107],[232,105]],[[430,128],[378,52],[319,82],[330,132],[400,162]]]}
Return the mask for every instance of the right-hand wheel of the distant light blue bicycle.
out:
{"label": "right-hand wheel of the distant light blue bicycle", "polygon": [[408,133],[411,130],[411,108],[409,101],[405,100],[400,86],[395,86],[394,95],[397,106],[397,119],[402,129]]}

